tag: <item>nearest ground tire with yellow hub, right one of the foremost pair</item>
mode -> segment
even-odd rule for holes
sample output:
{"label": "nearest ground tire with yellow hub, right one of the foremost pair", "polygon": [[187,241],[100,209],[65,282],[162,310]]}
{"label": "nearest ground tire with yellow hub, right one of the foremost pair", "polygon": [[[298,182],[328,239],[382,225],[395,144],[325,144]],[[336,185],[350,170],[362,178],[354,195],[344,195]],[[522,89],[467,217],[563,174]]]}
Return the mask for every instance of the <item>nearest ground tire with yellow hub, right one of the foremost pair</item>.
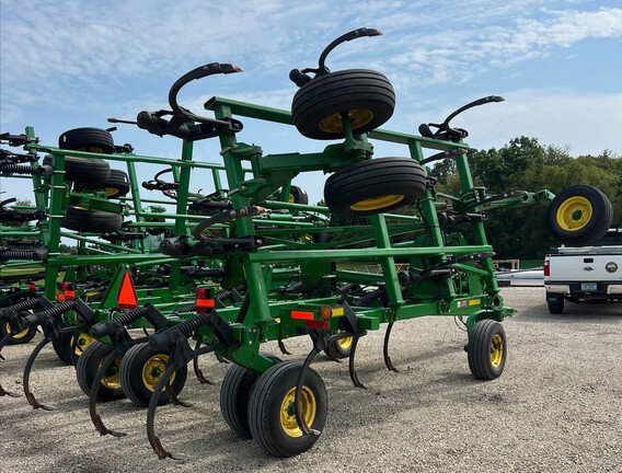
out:
{"label": "nearest ground tire with yellow hub, right one of the foremost pair", "polygon": [[[293,457],[309,450],[319,436],[303,435],[293,415],[293,395],[302,365],[281,362],[255,383],[249,404],[249,427],[255,441],[275,457]],[[310,428],[322,431],[329,407],[322,378],[309,369],[302,387],[301,414]]]}

